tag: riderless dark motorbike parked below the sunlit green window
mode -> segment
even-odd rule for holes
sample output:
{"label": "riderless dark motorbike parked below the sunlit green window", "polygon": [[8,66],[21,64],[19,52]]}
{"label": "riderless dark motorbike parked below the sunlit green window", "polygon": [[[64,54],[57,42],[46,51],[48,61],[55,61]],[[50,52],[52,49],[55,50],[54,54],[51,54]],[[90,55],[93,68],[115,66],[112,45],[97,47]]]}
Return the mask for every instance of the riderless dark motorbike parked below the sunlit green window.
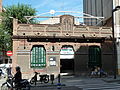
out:
{"label": "riderless dark motorbike parked below the sunlit green window", "polygon": [[[39,75],[39,79],[37,78],[38,75]],[[40,73],[35,72],[35,75],[30,80],[30,84],[36,85],[37,82],[48,83],[49,82],[49,75],[47,75],[47,74],[40,75]]]}

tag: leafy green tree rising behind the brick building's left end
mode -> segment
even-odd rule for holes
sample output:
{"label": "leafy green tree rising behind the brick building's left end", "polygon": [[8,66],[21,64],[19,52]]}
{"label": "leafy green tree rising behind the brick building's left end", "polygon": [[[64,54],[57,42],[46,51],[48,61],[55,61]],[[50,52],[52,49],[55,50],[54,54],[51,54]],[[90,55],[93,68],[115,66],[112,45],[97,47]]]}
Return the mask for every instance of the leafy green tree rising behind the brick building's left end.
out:
{"label": "leafy green tree rising behind the brick building's left end", "polygon": [[[17,4],[12,6],[4,7],[5,11],[1,13],[2,22],[0,25],[0,49],[12,50],[12,30],[13,20],[12,18],[18,19],[18,23],[27,23],[24,16],[34,16],[36,10],[30,5]],[[11,18],[12,17],[12,18]],[[35,23],[34,19],[30,20],[30,23]]]}

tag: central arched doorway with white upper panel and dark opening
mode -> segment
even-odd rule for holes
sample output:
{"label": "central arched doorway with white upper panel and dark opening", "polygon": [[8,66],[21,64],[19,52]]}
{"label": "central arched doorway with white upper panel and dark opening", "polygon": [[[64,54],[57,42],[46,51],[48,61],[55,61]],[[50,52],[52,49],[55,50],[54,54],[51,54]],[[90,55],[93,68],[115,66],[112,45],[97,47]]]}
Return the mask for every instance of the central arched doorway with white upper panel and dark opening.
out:
{"label": "central arched doorway with white upper panel and dark opening", "polygon": [[73,46],[64,45],[60,50],[60,72],[73,74],[74,72],[74,49]]}

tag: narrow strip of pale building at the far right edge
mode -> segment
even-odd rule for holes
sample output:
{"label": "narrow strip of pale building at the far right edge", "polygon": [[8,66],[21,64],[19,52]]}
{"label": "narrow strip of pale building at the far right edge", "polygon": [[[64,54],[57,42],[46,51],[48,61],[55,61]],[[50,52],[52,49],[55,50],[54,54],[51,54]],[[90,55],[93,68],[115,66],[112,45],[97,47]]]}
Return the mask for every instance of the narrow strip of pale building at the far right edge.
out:
{"label": "narrow strip of pale building at the far right edge", "polygon": [[[120,6],[120,0],[113,0],[113,9]],[[117,69],[120,75],[120,9],[114,12],[114,35],[117,47]]]}

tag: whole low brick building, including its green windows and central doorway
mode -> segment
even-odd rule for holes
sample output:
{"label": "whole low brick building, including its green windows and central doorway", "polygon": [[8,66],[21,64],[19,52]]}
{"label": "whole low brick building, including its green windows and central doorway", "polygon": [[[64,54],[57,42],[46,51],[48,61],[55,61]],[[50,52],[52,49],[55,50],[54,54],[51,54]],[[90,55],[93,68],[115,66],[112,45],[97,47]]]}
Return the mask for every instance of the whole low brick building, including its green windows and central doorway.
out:
{"label": "whole low brick building, including its green windows and central doorway", "polygon": [[93,66],[113,73],[111,27],[76,25],[71,15],[59,18],[57,24],[19,24],[14,19],[13,68],[19,65],[27,78],[34,71],[88,75]]}

